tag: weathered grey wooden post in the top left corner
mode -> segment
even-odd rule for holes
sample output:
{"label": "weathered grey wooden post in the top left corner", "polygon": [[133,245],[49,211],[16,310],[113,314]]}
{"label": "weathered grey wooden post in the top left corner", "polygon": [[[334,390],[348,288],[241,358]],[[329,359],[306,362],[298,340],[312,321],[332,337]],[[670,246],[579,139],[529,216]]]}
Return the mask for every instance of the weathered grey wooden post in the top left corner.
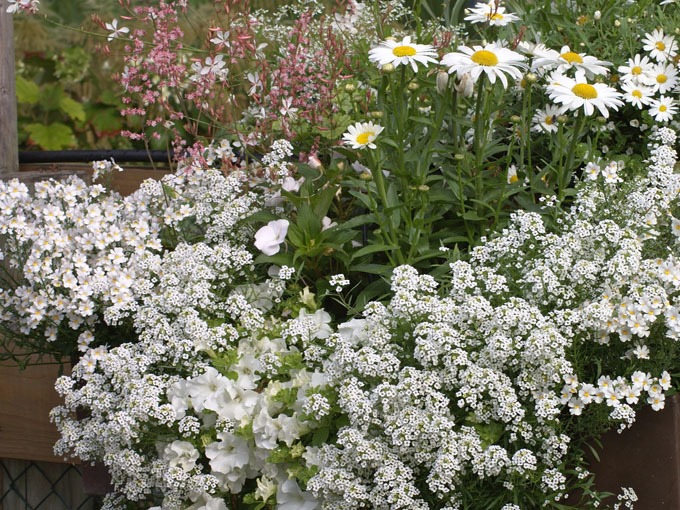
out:
{"label": "weathered grey wooden post in the top left corner", "polygon": [[0,178],[19,171],[13,15],[0,0]]}

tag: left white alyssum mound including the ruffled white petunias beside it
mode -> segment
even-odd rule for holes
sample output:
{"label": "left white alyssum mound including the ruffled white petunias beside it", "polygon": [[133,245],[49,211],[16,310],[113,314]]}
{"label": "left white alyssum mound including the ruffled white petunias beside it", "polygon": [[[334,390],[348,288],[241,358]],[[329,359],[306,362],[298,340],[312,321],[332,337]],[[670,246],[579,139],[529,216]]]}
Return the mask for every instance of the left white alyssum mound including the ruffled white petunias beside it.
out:
{"label": "left white alyssum mound including the ruffled white petunias beside it", "polygon": [[[327,381],[300,348],[327,335],[330,317],[303,308],[282,319],[294,270],[255,271],[244,220],[261,200],[246,182],[239,171],[192,164],[142,185],[176,244],[135,274],[134,338],[89,349],[57,381],[65,404],[52,412],[55,451],[104,462],[117,494],[105,508],[226,510],[252,479],[255,501],[317,507],[296,476],[307,472],[300,437],[318,426],[312,413],[329,411]],[[115,306],[104,315],[121,319]]]}

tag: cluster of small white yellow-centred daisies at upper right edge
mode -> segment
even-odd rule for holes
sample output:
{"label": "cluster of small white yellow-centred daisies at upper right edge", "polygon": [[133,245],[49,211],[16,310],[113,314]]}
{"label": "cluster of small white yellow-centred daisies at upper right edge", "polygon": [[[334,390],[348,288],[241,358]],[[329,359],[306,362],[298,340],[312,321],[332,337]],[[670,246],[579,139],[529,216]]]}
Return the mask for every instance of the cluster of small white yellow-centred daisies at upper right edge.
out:
{"label": "cluster of small white yellow-centred daisies at upper right edge", "polygon": [[678,111],[678,41],[658,28],[645,34],[642,43],[647,54],[636,54],[618,68],[623,98],[638,109],[648,107],[655,121],[668,122]]}

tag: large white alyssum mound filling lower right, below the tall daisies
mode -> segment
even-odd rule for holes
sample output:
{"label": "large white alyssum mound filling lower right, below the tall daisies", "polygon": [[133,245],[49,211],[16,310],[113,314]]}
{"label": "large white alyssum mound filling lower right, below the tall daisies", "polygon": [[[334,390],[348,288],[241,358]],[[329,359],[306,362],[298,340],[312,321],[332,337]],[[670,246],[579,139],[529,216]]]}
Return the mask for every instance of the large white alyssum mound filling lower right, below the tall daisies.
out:
{"label": "large white alyssum mound filling lower right, below the tall daisies", "polygon": [[[675,133],[655,138],[645,176],[584,183],[556,231],[516,213],[451,265],[443,293],[399,267],[387,305],[329,336],[325,371],[349,423],[307,484],[323,509],[457,509],[470,487],[511,501],[537,483],[560,500],[564,416],[599,405],[625,428],[633,405],[663,408],[670,375],[645,363],[678,334],[680,176]],[[603,374],[575,357],[587,349],[613,356]]]}

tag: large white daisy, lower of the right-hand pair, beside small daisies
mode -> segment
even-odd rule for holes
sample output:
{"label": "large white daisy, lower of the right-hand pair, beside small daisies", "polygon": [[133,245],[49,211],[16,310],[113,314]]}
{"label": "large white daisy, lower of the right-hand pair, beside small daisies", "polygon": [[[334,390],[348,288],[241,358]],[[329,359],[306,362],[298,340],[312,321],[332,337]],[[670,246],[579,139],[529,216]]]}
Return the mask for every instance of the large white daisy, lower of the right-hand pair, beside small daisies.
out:
{"label": "large white daisy, lower of the right-hand pair, beside small daisies", "polygon": [[586,115],[592,115],[597,108],[603,117],[608,118],[608,108],[618,110],[623,105],[623,101],[619,99],[621,95],[604,83],[590,84],[583,79],[559,76],[547,89],[554,102],[563,104],[569,110],[582,107]]}

